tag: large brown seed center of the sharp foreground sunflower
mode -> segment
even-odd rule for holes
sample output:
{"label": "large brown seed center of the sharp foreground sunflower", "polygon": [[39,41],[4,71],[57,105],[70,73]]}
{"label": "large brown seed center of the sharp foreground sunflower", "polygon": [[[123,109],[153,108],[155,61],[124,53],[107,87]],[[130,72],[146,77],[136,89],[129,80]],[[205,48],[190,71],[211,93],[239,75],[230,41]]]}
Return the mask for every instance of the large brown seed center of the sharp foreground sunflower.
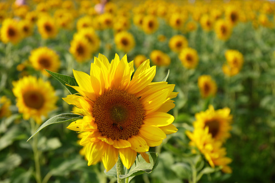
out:
{"label": "large brown seed center of the sharp foreground sunflower", "polygon": [[140,131],[145,110],[135,95],[110,89],[97,98],[92,114],[102,136],[127,140]]}

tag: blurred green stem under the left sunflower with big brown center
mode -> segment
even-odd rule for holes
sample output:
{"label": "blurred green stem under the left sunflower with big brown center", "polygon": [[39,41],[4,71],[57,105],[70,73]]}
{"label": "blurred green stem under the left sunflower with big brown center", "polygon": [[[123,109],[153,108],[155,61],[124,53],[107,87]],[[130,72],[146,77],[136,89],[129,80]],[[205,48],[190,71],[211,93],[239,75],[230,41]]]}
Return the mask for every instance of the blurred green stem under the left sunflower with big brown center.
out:
{"label": "blurred green stem under the left sunflower with big brown center", "polygon": [[[36,127],[36,123],[34,119],[30,119],[31,122],[31,130],[32,130],[32,134],[36,131],[37,127]],[[41,183],[41,171],[40,171],[40,162],[39,162],[39,150],[37,148],[37,143],[38,143],[38,136],[34,136],[33,137],[33,142],[32,142],[32,148],[33,148],[33,152],[34,152],[34,161],[35,161],[35,178],[37,183]]]}

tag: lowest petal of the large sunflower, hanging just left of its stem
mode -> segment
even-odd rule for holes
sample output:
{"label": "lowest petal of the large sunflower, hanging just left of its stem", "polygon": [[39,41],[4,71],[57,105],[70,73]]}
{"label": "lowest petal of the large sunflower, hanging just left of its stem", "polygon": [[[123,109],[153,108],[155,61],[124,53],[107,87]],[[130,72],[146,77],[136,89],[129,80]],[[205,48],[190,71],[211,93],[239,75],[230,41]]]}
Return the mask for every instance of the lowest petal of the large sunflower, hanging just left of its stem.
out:
{"label": "lowest petal of the large sunflower, hanging just left of its stem", "polygon": [[[103,142],[104,143],[104,142]],[[106,171],[111,170],[118,161],[118,149],[112,145],[106,145],[102,155],[102,163]]]}

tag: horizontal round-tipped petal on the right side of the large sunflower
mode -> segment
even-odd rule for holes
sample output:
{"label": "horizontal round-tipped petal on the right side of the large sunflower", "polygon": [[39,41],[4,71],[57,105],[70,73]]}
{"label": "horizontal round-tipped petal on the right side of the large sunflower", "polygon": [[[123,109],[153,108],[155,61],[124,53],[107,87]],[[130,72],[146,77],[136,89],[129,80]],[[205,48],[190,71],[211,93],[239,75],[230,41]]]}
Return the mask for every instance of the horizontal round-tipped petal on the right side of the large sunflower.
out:
{"label": "horizontal round-tipped petal on the right side of the large sunflower", "polygon": [[174,116],[164,112],[153,112],[144,117],[144,124],[149,126],[163,127],[173,123]]}

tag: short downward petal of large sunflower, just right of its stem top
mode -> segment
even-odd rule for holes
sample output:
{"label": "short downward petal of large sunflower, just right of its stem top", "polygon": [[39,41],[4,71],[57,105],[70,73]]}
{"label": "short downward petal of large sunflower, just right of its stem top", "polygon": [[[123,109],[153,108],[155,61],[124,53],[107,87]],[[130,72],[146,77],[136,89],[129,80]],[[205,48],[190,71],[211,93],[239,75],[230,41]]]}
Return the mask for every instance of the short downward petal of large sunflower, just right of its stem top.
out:
{"label": "short downward petal of large sunflower, just right of its stem top", "polygon": [[123,163],[123,165],[130,169],[133,165],[135,158],[136,158],[136,151],[132,150],[131,148],[122,148],[119,149],[119,156]]}

